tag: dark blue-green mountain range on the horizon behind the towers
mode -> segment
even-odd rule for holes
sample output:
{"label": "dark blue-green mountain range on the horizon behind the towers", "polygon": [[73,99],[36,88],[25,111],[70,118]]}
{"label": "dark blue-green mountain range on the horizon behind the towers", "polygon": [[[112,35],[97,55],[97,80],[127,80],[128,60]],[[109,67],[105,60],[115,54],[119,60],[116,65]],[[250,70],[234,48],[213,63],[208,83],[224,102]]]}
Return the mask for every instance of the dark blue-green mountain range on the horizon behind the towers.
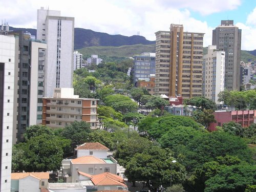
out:
{"label": "dark blue-green mountain range on the horizon behind the towers", "polygon": [[[10,30],[13,31],[18,31],[18,30],[23,30],[23,31],[28,31],[32,35],[36,36],[36,29],[27,29],[27,28],[14,28],[10,27]],[[126,46],[132,46],[130,54],[126,56],[131,56],[132,55],[132,49],[133,46],[137,45],[142,45],[142,47],[146,47],[147,50],[142,51],[150,51],[154,50],[152,49],[152,45],[154,45],[156,41],[150,41],[147,40],[143,36],[139,35],[133,35],[133,36],[124,36],[124,35],[110,35],[108,33],[101,33],[101,32],[95,32],[90,29],[82,29],[82,28],[75,28],[74,29],[74,50],[80,50],[80,49],[86,49],[90,47],[91,51],[93,52],[94,49],[100,50],[99,52],[95,54],[101,55],[101,49],[110,49],[110,47],[114,47],[114,49],[118,49],[115,47],[122,47],[124,49],[127,49]],[[107,46],[110,46],[107,48]],[[124,47],[123,47],[124,46]],[[150,46],[150,47],[148,47]],[[138,47],[138,46],[137,46]],[[154,47],[154,46],[153,46]],[[138,51],[138,50],[137,50]],[[116,52],[113,52],[116,53]],[[125,54],[125,53],[124,53]],[[135,52],[134,54],[137,54]],[[249,58],[255,57],[256,56],[256,49],[253,51],[242,51],[241,55],[245,54],[246,58],[249,55]],[[118,55],[116,55],[118,56]],[[251,58],[251,60],[254,60],[255,58]]]}

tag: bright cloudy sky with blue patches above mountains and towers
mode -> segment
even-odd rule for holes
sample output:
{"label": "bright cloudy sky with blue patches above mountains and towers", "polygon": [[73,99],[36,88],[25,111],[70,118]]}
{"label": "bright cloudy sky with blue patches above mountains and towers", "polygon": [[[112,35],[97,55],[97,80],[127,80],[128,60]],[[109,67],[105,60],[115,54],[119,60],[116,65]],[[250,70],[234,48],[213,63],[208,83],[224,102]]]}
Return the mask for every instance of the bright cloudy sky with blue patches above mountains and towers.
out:
{"label": "bright cloudy sky with blue patches above mountains and towers", "polygon": [[229,19],[242,29],[242,50],[256,49],[256,0],[0,0],[0,5],[0,19],[11,27],[36,29],[37,9],[44,7],[75,17],[75,28],[148,40],[169,31],[170,24],[183,24],[184,31],[205,33],[204,47],[211,45],[212,29]]}

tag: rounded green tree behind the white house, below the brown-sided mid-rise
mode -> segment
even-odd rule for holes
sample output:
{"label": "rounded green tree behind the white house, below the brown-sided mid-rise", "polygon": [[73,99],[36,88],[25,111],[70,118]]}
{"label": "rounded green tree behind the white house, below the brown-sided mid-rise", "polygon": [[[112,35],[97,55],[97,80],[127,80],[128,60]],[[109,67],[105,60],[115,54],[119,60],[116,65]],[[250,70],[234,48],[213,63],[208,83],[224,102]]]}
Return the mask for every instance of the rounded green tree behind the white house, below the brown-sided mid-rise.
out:
{"label": "rounded green tree behind the white house, below the brown-sided mid-rise", "polygon": [[82,144],[88,140],[91,132],[90,124],[84,121],[74,121],[65,126],[61,135],[72,141],[73,145]]}

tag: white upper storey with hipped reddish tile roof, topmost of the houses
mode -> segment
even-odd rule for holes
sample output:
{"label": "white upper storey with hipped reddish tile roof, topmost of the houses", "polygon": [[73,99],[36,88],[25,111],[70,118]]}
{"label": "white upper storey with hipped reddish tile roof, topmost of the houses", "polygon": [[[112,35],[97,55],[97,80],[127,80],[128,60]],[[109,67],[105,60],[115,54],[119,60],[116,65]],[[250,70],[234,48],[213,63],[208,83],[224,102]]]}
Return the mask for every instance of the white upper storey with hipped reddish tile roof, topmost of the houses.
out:
{"label": "white upper storey with hipped reddish tile roof, topmost of the houses", "polygon": [[75,148],[77,157],[93,155],[94,157],[104,159],[107,156],[109,148],[98,143],[83,143]]}

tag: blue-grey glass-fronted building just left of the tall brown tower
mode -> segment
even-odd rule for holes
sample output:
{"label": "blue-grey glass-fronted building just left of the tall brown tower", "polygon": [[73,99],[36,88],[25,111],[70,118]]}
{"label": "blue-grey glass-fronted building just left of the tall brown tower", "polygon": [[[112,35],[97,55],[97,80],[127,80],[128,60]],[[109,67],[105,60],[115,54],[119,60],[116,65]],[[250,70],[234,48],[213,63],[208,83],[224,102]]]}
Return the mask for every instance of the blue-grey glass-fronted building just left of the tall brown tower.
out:
{"label": "blue-grey glass-fronted building just left of the tall brown tower", "polygon": [[137,86],[138,81],[150,79],[156,74],[156,53],[141,53],[134,56],[133,83]]}

